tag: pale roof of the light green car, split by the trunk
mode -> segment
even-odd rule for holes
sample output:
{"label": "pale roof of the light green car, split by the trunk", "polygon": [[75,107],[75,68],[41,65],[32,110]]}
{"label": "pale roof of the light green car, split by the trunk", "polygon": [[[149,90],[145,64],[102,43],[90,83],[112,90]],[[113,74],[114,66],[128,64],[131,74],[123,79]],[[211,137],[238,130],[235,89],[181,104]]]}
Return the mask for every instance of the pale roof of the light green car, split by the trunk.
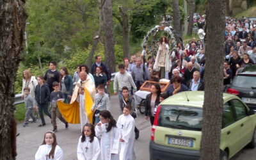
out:
{"label": "pale roof of the light green car, split by the trunk", "polygon": [[[236,98],[235,95],[223,93],[223,100]],[[204,91],[180,92],[161,102],[161,105],[191,106],[202,108],[204,104]]]}

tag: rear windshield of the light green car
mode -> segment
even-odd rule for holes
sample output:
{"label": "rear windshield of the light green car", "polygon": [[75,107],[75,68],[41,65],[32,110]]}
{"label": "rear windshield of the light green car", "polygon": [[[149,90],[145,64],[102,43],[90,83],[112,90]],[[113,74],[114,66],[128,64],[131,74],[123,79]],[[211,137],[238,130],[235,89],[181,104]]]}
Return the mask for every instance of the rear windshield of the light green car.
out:
{"label": "rear windshield of the light green car", "polygon": [[189,106],[162,106],[159,126],[193,131],[202,130],[202,108]]}

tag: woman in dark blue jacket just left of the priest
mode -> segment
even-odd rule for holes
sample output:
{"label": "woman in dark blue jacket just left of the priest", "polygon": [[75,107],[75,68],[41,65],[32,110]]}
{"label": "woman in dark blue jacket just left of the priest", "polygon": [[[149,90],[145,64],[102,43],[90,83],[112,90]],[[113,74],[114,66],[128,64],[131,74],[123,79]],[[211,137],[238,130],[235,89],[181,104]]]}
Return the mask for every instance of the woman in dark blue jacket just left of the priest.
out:
{"label": "woman in dark blue jacket just left of the priest", "polygon": [[60,68],[60,82],[60,91],[63,94],[64,102],[69,104],[73,92],[73,80],[66,67]]}

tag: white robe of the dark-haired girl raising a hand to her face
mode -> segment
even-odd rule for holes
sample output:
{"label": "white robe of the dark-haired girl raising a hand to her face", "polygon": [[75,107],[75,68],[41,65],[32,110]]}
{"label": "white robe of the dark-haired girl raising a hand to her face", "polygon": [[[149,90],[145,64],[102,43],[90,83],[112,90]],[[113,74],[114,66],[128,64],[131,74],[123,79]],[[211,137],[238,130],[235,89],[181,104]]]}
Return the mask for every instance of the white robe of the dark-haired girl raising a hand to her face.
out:
{"label": "white robe of the dark-haired girl raising a hand to her face", "polygon": [[96,125],[95,133],[100,138],[100,155],[103,160],[118,160],[119,159],[119,142],[120,130],[117,127],[112,127],[107,132],[108,123]]}

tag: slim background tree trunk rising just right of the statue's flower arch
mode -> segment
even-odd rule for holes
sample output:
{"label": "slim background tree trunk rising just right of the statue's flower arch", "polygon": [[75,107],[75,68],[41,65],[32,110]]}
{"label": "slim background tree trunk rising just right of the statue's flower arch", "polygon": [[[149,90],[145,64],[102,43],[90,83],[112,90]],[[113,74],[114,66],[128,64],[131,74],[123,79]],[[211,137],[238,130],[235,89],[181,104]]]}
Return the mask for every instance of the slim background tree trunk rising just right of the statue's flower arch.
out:
{"label": "slim background tree trunk rising just right of the statue's flower arch", "polygon": [[173,10],[173,29],[177,31],[180,35],[180,8],[179,1],[172,0],[172,10]]}

